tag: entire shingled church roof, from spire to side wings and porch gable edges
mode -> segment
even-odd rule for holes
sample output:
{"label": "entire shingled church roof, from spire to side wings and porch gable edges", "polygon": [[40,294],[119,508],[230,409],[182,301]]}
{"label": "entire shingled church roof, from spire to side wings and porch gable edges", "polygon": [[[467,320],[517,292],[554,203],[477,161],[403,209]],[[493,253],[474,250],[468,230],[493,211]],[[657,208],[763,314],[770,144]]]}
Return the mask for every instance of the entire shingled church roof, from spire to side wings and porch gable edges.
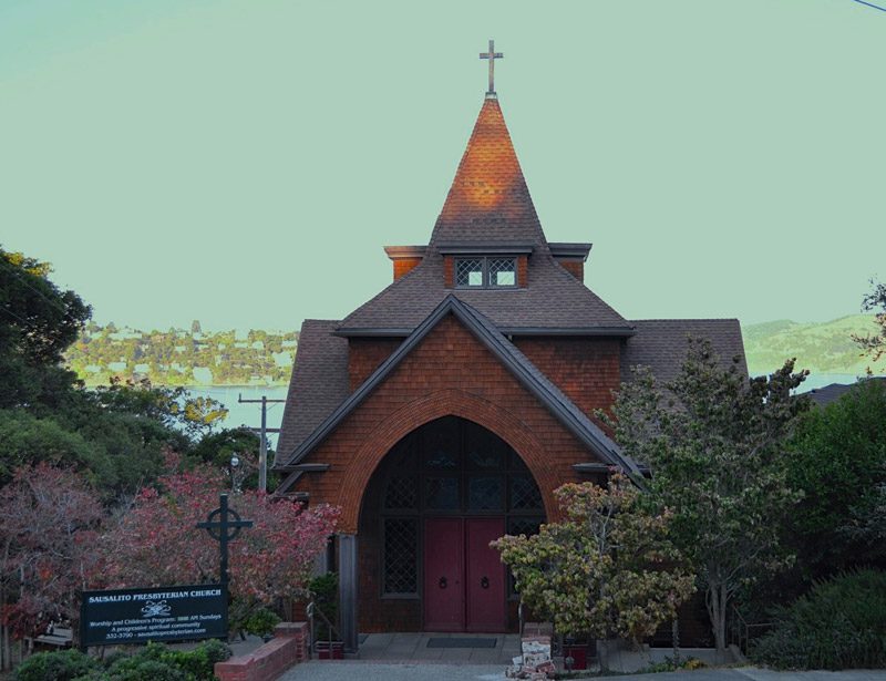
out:
{"label": "entire shingled church roof, from spire to side wings and porch gable edges", "polygon": [[[443,254],[455,252],[456,246],[490,248],[490,252],[513,247],[515,254],[529,252],[527,287],[446,289]],[[410,343],[447,313],[460,317],[601,461],[629,470],[635,468],[633,463],[622,460],[611,440],[506,336],[624,337],[622,381],[630,381],[630,368],[640,364],[649,367],[661,382],[680,371],[689,336],[708,338],[724,361],[741,357],[740,368],[746,373],[738,320],[628,321],[560,267],[542,230],[498,102],[487,97],[422,262],[344,320],[303,323],[275,466],[286,470],[306,455],[384,379],[410,351]],[[348,336],[402,336],[405,340],[351,392]]]}

